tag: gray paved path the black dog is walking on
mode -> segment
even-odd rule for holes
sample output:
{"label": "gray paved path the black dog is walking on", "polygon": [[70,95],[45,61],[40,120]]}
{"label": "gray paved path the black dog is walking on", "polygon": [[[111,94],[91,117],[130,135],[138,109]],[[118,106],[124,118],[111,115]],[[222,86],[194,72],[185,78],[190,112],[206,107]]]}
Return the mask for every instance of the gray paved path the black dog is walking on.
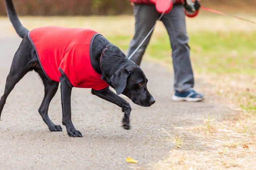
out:
{"label": "gray paved path the black dog is walking on", "polygon": [[[16,35],[0,36],[0,91],[12,57],[21,39]],[[203,102],[173,102],[173,73],[164,67],[143,62],[149,82],[148,90],[156,103],[148,108],[133,104],[131,130],[121,127],[121,108],[91,95],[90,89],[72,91],[72,121],[83,138],[71,138],[62,132],[50,132],[38,113],[44,88],[35,72],[27,74],[7,99],[0,121],[0,169],[151,169],[154,163],[169,158],[177,148],[173,138],[182,129],[203,123],[205,119],[232,119],[237,111],[219,103],[219,96],[202,91]],[[195,89],[204,84],[196,79]],[[54,96],[49,116],[61,124],[60,91]],[[191,133],[191,143],[183,150],[208,149]],[[138,163],[126,162],[126,158]]]}

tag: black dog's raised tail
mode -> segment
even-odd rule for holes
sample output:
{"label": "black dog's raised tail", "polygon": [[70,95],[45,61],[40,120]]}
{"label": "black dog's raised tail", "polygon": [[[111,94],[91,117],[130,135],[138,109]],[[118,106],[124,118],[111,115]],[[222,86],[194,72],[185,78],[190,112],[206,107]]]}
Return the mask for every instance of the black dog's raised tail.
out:
{"label": "black dog's raised tail", "polygon": [[23,38],[29,30],[25,28],[21,23],[18,18],[18,15],[15,11],[14,5],[12,3],[12,0],[5,0],[6,4],[6,9],[7,9],[7,14],[9,16],[9,19],[15,29],[15,31],[18,33],[18,35]]}

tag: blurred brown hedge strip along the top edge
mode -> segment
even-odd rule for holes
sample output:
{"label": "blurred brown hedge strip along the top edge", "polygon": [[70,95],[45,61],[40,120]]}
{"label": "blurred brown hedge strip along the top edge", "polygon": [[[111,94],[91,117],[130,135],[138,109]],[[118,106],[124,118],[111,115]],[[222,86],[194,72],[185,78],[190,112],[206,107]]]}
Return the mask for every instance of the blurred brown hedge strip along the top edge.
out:
{"label": "blurred brown hedge strip along the top edge", "polygon": [[[19,15],[120,15],[132,14],[129,0],[13,0]],[[229,12],[254,12],[255,0],[202,0],[207,7]],[[0,15],[5,16],[4,1],[0,1]]]}

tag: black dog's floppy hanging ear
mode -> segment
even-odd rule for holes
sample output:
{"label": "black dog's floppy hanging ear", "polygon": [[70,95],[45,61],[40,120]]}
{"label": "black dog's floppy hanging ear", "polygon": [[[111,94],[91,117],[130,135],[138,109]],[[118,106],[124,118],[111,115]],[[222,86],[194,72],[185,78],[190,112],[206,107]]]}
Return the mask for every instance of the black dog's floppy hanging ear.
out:
{"label": "black dog's floppy hanging ear", "polygon": [[129,75],[129,71],[120,68],[111,76],[111,83],[116,90],[117,95],[124,91]]}

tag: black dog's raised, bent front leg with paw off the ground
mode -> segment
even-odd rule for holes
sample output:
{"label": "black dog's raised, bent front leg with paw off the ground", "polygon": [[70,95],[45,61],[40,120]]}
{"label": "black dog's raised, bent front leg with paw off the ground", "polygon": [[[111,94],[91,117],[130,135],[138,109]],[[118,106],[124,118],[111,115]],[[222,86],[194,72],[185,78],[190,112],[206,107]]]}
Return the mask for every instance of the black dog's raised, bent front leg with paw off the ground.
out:
{"label": "black dog's raised, bent front leg with paw off the ground", "polygon": [[93,95],[96,95],[102,99],[105,99],[111,103],[116,104],[117,106],[122,108],[122,111],[124,112],[124,118],[123,118],[123,127],[124,129],[129,130],[130,129],[130,112],[131,112],[131,106],[130,104],[121,98],[120,96],[116,95],[113,91],[110,89],[105,90],[105,91],[100,91],[100,90],[91,90],[91,93]]}

